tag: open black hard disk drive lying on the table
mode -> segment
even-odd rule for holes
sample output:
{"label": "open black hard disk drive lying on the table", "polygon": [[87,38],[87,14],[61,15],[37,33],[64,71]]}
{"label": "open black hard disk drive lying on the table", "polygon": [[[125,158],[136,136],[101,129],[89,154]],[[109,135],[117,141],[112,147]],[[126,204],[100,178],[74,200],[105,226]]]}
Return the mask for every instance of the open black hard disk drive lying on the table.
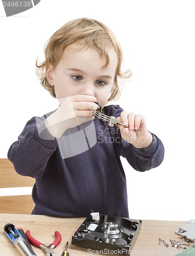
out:
{"label": "open black hard disk drive lying on the table", "polygon": [[72,244],[102,250],[103,254],[129,255],[140,229],[141,220],[92,212],[72,236]]}

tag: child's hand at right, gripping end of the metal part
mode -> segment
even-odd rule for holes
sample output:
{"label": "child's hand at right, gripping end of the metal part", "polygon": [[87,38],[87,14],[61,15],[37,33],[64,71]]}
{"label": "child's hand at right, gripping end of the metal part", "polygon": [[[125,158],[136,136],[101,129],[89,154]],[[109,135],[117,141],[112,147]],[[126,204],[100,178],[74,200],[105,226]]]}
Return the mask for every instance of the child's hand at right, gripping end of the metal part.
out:
{"label": "child's hand at right, gripping end of the metal part", "polygon": [[119,125],[121,136],[124,140],[137,148],[148,147],[151,144],[153,136],[147,131],[146,122],[142,115],[128,114],[122,111],[121,116],[117,117],[117,120],[128,126]]}

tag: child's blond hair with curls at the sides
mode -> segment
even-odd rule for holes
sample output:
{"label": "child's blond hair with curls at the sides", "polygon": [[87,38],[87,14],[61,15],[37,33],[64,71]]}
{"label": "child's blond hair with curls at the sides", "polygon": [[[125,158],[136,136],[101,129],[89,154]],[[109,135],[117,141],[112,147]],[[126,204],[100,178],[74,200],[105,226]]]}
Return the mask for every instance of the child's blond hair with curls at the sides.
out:
{"label": "child's blond hair with curls at the sides", "polygon": [[42,86],[56,98],[55,87],[47,80],[46,70],[49,65],[53,68],[58,65],[64,49],[69,45],[77,43],[80,47],[90,47],[105,58],[105,66],[109,63],[107,49],[113,47],[118,56],[118,65],[115,72],[114,85],[111,96],[107,101],[117,99],[120,96],[119,79],[126,79],[131,76],[131,71],[121,71],[122,49],[114,33],[104,24],[95,19],[78,18],[71,20],[58,29],[48,40],[45,46],[45,61],[38,65],[36,60],[36,73],[40,78]]}

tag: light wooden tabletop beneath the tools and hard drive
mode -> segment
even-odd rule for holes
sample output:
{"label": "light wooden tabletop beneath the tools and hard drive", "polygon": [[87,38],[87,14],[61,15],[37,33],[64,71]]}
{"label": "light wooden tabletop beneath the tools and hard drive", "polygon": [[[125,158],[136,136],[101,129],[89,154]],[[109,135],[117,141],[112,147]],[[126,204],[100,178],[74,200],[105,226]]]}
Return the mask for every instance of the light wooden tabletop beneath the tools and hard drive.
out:
{"label": "light wooden tabletop beneath the tools and hard drive", "polygon": [[[54,241],[54,232],[57,230],[61,233],[62,241],[54,248],[56,256],[60,256],[62,251],[66,247],[67,241],[69,242],[68,251],[70,256],[75,255],[97,255],[97,251],[88,248],[71,245],[72,235],[80,227],[85,218],[54,218],[48,216],[39,215],[19,215],[19,214],[0,214],[0,244],[1,244],[1,256],[19,256],[19,252],[11,243],[9,238],[6,236],[3,228],[7,223],[13,223],[17,227],[23,228],[25,231],[29,229],[32,236],[38,241],[50,244]],[[166,255],[174,256],[179,253],[178,248],[171,247],[170,239],[179,240],[181,239],[175,231],[180,226],[185,224],[186,221],[153,221],[153,220],[142,220],[141,231],[136,241],[134,248],[131,251],[131,255]],[[166,247],[159,245],[159,238],[164,239],[169,246]],[[35,253],[38,256],[46,255],[44,250],[33,246]],[[98,254],[98,255],[105,255]],[[114,254],[118,255],[118,254]]]}

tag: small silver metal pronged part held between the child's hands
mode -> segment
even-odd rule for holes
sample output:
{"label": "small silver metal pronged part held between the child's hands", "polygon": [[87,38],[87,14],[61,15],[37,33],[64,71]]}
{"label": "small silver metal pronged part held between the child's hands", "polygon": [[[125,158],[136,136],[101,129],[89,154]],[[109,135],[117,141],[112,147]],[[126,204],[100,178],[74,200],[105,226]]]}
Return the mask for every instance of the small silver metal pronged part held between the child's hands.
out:
{"label": "small silver metal pronged part held between the child's hands", "polygon": [[128,127],[127,125],[119,122],[116,117],[114,116],[106,116],[104,114],[102,114],[102,110],[101,110],[101,105],[98,102],[95,102],[98,105],[98,109],[97,110],[91,110],[92,111],[92,115],[97,117],[98,119],[104,121],[107,123],[107,125],[109,125],[110,127],[113,127],[114,125],[118,126],[118,125],[122,125],[124,127]]}

